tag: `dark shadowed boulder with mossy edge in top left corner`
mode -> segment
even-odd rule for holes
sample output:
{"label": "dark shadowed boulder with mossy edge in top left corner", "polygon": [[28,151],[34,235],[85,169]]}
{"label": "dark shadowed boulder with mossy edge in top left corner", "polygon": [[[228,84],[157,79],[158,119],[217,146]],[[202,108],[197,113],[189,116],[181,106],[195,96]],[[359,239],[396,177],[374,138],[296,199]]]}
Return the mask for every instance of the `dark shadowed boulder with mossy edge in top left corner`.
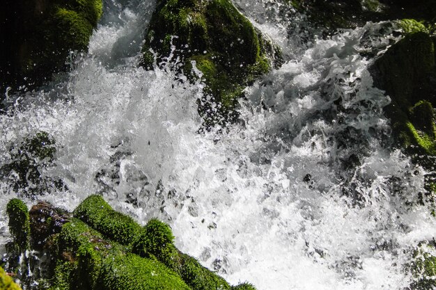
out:
{"label": "dark shadowed boulder with mossy edge in top left corner", "polygon": [[31,88],[64,70],[70,51],[86,51],[101,14],[102,0],[3,1],[1,96],[7,87]]}

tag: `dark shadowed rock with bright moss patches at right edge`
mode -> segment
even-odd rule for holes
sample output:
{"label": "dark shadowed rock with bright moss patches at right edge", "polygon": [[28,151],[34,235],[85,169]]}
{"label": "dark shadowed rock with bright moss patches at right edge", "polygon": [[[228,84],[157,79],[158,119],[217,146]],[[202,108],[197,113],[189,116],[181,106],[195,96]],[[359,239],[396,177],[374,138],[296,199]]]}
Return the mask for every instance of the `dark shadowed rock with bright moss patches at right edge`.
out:
{"label": "dark shadowed rock with bright moss patches at right edge", "polygon": [[396,143],[410,154],[435,155],[435,46],[419,22],[402,22],[410,33],[375,61],[373,79],[391,97],[385,112]]}

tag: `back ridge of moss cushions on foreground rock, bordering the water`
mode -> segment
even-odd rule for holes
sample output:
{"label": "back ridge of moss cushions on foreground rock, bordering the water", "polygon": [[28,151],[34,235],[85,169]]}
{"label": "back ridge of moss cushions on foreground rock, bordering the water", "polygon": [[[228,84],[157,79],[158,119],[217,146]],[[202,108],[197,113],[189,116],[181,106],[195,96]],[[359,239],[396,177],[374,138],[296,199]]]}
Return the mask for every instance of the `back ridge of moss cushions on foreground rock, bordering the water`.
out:
{"label": "back ridge of moss cushions on foreground rock, bordering the water", "polygon": [[222,277],[180,252],[173,244],[169,225],[157,219],[151,219],[141,228],[132,218],[114,211],[100,195],[86,198],[74,214],[107,238],[132,249],[134,254],[161,262],[178,273],[191,289],[230,289]]}

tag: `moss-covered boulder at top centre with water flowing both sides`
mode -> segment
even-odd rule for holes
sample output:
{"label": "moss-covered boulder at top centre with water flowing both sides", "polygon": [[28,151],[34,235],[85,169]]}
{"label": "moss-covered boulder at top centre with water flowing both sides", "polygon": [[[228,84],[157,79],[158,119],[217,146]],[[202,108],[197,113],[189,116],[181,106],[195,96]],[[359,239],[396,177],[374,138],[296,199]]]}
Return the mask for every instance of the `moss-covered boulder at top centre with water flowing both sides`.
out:
{"label": "moss-covered boulder at top centre with water flowing both sides", "polygon": [[[191,80],[204,79],[205,92],[227,119],[244,86],[282,61],[230,0],[158,0],[142,51],[146,69],[156,56],[158,65],[171,63]],[[200,108],[203,116],[213,111],[210,103]]]}

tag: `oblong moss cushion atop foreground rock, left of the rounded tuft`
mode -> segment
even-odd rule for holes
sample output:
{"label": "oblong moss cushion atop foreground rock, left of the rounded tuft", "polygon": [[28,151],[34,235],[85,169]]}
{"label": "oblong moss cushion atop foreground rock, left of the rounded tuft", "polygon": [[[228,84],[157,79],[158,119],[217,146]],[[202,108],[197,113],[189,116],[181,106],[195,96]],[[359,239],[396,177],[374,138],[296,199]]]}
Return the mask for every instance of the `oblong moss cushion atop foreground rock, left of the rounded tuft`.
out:
{"label": "oblong moss cushion atop foreground rock, left of the rounded tuft", "polygon": [[74,211],[75,218],[83,220],[102,234],[128,245],[141,227],[130,216],[114,211],[100,195],[90,195]]}

